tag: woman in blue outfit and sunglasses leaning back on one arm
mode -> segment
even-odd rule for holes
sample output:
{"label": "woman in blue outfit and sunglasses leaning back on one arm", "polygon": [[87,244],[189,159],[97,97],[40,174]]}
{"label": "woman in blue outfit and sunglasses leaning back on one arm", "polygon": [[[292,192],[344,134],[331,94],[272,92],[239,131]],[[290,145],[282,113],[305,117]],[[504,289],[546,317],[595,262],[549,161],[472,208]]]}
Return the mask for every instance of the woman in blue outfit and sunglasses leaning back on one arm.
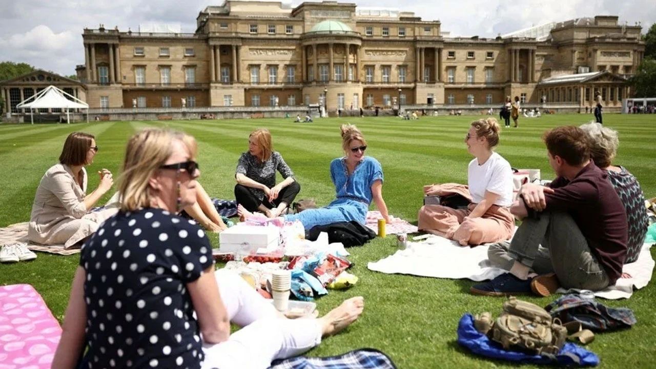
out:
{"label": "woman in blue outfit and sunglasses leaning back on one arm", "polygon": [[[365,156],[367,141],[355,125],[344,124],[342,149],[346,156],[334,159],[330,174],[337,198],[328,206],[319,209],[306,209],[298,214],[285,215],[285,221],[298,220],[309,230],[318,225],[338,222],[358,221],[365,224],[369,204],[375,202],[382,217],[390,223],[385,200],[382,198],[382,167],[378,160]],[[237,213],[242,220],[253,214],[241,206]]]}

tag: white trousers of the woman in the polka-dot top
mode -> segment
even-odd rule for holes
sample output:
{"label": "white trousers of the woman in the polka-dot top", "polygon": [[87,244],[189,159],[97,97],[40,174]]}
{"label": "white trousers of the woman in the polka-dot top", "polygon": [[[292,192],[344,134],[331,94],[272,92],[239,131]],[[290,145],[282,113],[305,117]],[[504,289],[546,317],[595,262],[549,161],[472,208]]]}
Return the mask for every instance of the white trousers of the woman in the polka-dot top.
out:
{"label": "white trousers of the woman in the polka-dot top", "polygon": [[300,355],[321,343],[317,319],[281,318],[234,272],[216,271],[216,282],[230,322],[242,328],[228,341],[203,344],[202,369],[266,369],[277,358]]}

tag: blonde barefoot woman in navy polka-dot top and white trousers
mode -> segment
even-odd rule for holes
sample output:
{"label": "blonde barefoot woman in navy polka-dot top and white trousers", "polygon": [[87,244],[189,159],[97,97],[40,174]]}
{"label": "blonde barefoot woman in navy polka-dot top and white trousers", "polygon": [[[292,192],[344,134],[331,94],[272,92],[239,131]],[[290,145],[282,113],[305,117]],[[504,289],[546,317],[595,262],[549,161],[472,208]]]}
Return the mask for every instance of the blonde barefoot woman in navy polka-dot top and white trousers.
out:
{"label": "blonde barefoot woman in navy polka-dot top and white trousers", "polygon": [[[205,232],[176,215],[196,201],[195,154],[192,137],[163,129],[128,142],[121,209],[83,245],[52,368],[264,369],[362,313],[353,297],[288,320],[237,274],[215,272]],[[231,335],[230,322],[243,328]]]}

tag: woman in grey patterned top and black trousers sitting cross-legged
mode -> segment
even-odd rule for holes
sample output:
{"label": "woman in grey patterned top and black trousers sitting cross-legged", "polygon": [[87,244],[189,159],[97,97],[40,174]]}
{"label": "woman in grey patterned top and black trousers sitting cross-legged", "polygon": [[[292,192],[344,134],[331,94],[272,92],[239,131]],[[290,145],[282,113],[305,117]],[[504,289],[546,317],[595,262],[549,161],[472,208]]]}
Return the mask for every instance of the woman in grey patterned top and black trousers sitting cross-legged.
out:
{"label": "woman in grey patterned top and black trousers sitting cross-legged", "polygon": [[[276,185],[276,170],[284,181]],[[300,191],[279,152],[272,150],[271,133],[266,128],[251,132],[248,151],[243,152],[235,173],[237,204],[248,211],[262,211],[267,217],[275,218],[289,206]]]}

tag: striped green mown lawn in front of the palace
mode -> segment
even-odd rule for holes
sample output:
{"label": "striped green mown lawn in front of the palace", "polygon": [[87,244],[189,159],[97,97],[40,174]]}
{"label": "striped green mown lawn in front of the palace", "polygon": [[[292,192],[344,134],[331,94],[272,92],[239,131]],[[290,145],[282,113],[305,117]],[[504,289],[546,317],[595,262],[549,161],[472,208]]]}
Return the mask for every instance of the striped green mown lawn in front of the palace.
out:
{"label": "striped green mown lawn in front of the palace", "polygon": [[[211,196],[234,198],[234,170],[246,150],[249,133],[268,127],[274,150],[281,152],[302,185],[299,198],[315,198],[327,204],[335,194],[329,177],[330,160],[342,155],[338,125],[355,123],[369,148],[367,154],[382,163],[383,196],[392,215],[417,221],[422,204],[422,185],[466,183],[471,160],[463,140],[475,117],[434,117],[419,121],[396,118],[330,118],[315,123],[291,123],[292,119],[242,119],[215,121],[156,121],[79,123],[72,125],[0,125],[0,227],[27,221],[34,192],[43,173],[56,163],[66,136],[85,131],[96,136],[100,147],[89,173],[89,189],[98,185],[93,173],[100,168],[119,172],[125,142],[137,129],[168,125],[191,133],[199,142],[200,181]],[[573,114],[520,119],[519,129],[504,129],[498,152],[514,167],[539,168],[543,179],[553,178],[541,135],[550,127],[579,125],[591,115]],[[656,196],[656,116],[606,115],[604,121],[620,133],[615,163],[624,165],[640,181],[648,198]],[[108,198],[108,196],[106,196]],[[106,198],[104,200],[106,200]],[[213,243],[217,245],[217,237]],[[344,334],[326,339],[310,355],[336,355],[359,347],[374,347],[390,355],[399,368],[510,367],[501,361],[475,357],[455,343],[459,318],[465,312],[501,309],[502,299],[474,297],[474,282],[415,276],[387,275],[367,269],[396,250],[396,238],[377,238],[362,248],[352,248],[352,272],[360,280],[345,292],[331,292],[319,299],[321,312],[354,295],[365,297],[361,319]],[[656,248],[652,249],[656,257]],[[30,283],[43,295],[52,313],[62,319],[70,282],[79,257],[39,254],[30,263],[0,265],[0,284]],[[546,305],[553,298],[530,299]],[[588,345],[606,368],[656,367],[656,287],[634,293],[630,300],[605,301],[612,307],[630,307],[638,324],[623,332],[600,334]]]}

